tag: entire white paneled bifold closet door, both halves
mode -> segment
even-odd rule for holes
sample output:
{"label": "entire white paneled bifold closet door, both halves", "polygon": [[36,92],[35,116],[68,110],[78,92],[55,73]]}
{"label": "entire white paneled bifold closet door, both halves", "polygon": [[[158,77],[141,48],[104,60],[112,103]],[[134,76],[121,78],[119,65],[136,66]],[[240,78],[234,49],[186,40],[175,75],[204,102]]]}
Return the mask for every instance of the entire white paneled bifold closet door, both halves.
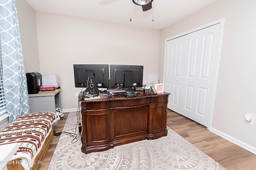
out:
{"label": "entire white paneled bifold closet door, both halves", "polygon": [[165,84],[168,109],[208,126],[216,71],[220,24],[169,40]]}

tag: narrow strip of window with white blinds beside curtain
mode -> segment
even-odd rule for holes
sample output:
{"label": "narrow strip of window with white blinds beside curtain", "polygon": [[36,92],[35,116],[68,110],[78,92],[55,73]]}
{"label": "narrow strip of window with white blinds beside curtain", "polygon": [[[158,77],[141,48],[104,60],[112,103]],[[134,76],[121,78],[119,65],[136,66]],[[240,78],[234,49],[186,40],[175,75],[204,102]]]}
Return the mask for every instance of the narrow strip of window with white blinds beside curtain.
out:
{"label": "narrow strip of window with white blinds beside curtain", "polygon": [[[1,35],[0,35],[1,40]],[[4,97],[4,84],[3,84],[3,67],[2,67],[2,48],[0,41],[0,116],[7,112],[6,102]]]}

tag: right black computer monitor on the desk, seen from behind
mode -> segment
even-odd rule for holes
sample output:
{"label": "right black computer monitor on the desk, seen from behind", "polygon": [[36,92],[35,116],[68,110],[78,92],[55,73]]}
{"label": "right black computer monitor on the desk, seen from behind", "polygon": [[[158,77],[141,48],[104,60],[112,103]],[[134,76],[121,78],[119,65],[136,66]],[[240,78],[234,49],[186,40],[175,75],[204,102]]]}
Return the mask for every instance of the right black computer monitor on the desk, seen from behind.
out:
{"label": "right black computer monitor on the desk, seen from behind", "polygon": [[143,65],[110,65],[110,88],[142,87]]}

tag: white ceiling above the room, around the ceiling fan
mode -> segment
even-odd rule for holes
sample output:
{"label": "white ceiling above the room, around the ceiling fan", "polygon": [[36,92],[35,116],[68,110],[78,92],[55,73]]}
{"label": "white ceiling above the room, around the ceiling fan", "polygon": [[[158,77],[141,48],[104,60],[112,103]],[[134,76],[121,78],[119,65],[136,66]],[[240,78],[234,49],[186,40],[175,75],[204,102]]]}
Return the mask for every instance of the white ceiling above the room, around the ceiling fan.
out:
{"label": "white ceiling above the room, around the ceiling fan", "polygon": [[166,28],[215,1],[154,0],[153,8],[143,12],[142,7],[132,0],[26,0],[38,12],[156,30]]}

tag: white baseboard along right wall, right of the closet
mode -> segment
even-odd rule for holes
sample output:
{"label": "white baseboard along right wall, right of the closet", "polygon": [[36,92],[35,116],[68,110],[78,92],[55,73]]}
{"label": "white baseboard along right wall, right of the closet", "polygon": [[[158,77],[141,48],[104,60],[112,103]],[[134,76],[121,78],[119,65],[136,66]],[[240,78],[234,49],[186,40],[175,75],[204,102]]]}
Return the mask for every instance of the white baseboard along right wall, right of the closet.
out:
{"label": "white baseboard along right wall, right of the closet", "polygon": [[209,130],[211,132],[221,136],[222,138],[225,138],[226,140],[229,140],[230,142],[232,142],[232,143],[234,143],[234,144],[236,144],[238,146],[241,146],[242,148],[244,148],[244,149],[246,149],[246,150],[256,154],[256,148],[255,147],[253,147],[253,146],[251,146],[249,144],[246,144],[246,143],[242,142],[241,140],[238,140],[238,139],[236,139],[236,138],[234,138],[232,136],[229,136],[228,134],[225,134],[225,133],[223,133],[223,132],[221,132],[221,131],[219,131],[219,130],[217,130],[215,128],[210,128]]}

